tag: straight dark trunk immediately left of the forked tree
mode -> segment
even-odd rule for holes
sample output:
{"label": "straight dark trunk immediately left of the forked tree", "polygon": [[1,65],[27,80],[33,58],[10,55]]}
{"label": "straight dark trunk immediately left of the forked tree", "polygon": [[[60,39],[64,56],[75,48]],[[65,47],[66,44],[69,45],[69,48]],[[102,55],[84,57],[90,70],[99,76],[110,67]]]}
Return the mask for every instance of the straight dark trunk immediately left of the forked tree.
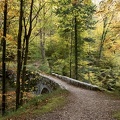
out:
{"label": "straight dark trunk immediately left of the forked tree", "polygon": [[20,106],[20,77],[21,77],[21,41],[22,41],[22,18],[23,18],[23,0],[20,0],[20,17],[17,43],[17,84],[16,84],[16,109]]}

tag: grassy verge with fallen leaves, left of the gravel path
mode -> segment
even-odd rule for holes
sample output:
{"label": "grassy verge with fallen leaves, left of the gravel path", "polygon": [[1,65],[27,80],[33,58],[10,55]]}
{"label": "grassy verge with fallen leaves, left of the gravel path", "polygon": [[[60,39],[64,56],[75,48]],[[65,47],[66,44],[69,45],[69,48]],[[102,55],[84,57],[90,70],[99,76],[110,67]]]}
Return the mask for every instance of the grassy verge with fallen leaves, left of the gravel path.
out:
{"label": "grassy verge with fallen leaves, left of the gravel path", "polygon": [[51,112],[67,103],[68,94],[67,90],[58,89],[49,94],[36,96],[17,111],[7,113],[5,117],[0,116],[0,120],[24,120]]}

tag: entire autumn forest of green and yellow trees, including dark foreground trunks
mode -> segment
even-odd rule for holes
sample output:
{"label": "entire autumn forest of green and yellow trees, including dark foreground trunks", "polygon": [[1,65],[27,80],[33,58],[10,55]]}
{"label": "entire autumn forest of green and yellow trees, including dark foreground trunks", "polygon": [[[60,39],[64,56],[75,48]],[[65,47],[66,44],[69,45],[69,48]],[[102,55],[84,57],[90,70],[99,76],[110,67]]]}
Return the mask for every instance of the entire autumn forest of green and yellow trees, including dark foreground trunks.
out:
{"label": "entire autumn forest of green and yellow trees, including dark foreground trunks", "polygon": [[[23,104],[28,71],[120,93],[119,0],[1,0],[0,40],[3,115],[7,86],[16,91],[16,109]],[[8,81],[8,74],[15,75]]]}

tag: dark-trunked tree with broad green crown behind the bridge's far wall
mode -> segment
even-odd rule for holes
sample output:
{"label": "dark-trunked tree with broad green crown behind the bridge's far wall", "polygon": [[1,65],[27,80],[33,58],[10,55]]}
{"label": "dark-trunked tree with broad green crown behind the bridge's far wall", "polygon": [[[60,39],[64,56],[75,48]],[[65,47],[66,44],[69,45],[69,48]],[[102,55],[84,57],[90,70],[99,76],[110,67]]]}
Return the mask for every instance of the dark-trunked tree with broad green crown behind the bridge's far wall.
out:
{"label": "dark-trunked tree with broad green crown behind the bridge's far wall", "polygon": [[[78,68],[80,67],[80,53],[82,52],[82,36],[81,33],[87,29],[91,29],[93,25],[92,15],[95,7],[90,1],[60,1],[57,5],[56,14],[59,17],[60,29],[63,34],[72,33],[74,38],[74,78],[78,79]],[[72,56],[71,56],[72,57]],[[78,59],[79,58],[79,59]],[[79,62],[78,62],[79,61]],[[78,67],[79,66],[79,67]],[[79,69],[80,70],[80,69]]]}

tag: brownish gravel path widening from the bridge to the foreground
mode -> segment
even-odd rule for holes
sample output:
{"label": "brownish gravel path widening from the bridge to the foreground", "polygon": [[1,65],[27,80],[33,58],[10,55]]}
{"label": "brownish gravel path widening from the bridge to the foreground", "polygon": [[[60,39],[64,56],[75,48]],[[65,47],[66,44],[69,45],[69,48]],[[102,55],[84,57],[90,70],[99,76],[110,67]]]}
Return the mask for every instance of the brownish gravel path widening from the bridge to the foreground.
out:
{"label": "brownish gravel path widening from the bridge to the foreground", "polygon": [[34,120],[115,120],[112,114],[120,110],[119,99],[102,92],[77,88],[58,78],[49,77],[70,91],[69,103]]}

